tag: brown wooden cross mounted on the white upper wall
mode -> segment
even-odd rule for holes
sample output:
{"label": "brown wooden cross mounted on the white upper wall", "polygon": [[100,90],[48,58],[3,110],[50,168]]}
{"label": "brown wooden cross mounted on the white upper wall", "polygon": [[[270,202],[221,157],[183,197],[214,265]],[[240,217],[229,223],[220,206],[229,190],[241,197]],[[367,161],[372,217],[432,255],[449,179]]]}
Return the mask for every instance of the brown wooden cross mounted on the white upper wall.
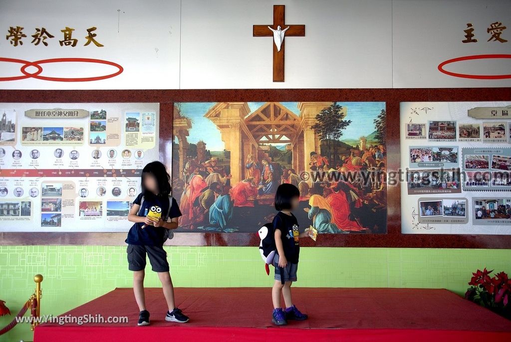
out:
{"label": "brown wooden cross mounted on the white upper wall", "polygon": [[277,51],[277,46],[273,43],[273,82],[284,82],[284,43],[286,37],[304,37],[305,25],[286,25],[284,19],[284,5],[273,5],[273,25],[254,25],[254,37],[272,37],[273,32],[268,29],[270,26],[276,30],[280,26],[282,30],[289,27],[282,41],[281,51]]}

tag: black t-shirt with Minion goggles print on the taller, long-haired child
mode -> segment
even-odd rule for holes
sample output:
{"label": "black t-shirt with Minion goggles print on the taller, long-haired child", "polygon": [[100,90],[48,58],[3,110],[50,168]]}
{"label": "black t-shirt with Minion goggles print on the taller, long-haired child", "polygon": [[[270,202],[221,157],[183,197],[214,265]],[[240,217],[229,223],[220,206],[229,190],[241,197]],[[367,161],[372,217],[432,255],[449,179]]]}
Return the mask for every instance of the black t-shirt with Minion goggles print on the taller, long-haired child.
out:
{"label": "black t-shirt with Minion goggles print on the taller, long-haired child", "polygon": [[[142,202],[143,194],[140,193],[133,201],[133,204],[140,205]],[[179,210],[179,206],[174,198],[170,198],[165,196],[164,198],[151,196],[151,198],[144,197],[144,203],[142,203],[142,207],[138,209],[138,215],[147,216],[149,210],[153,210],[157,212],[157,209],[160,208],[161,219],[167,221],[167,219],[179,217],[181,216],[181,211]],[[169,212],[169,203],[172,202],[170,207],[169,217],[167,216],[167,212]],[[154,226],[144,226],[143,222],[135,223],[128,232],[128,237],[126,238],[126,242],[130,245],[144,245],[144,246],[163,246],[164,241],[164,227],[154,227]]]}

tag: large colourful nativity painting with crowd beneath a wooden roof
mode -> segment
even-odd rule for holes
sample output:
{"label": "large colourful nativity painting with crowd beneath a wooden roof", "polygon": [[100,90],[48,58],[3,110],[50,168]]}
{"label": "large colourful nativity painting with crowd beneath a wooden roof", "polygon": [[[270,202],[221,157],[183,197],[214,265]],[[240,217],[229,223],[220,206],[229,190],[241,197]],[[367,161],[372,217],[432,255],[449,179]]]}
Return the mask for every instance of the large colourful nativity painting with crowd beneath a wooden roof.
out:
{"label": "large colourful nativity painting with crowd beneath a wooden roof", "polygon": [[385,103],[176,103],[179,231],[257,232],[278,185],[300,192],[300,227],[386,233]]}

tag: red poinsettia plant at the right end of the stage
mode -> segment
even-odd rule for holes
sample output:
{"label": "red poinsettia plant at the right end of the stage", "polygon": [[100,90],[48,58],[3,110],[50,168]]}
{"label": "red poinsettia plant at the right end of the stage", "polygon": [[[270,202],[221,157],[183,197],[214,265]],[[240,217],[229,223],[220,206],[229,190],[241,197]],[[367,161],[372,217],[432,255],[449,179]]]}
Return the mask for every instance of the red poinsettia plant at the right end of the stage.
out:
{"label": "red poinsettia plant at the right end of the stage", "polygon": [[505,272],[491,276],[492,271],[477,270],[472,273],[471,285],[465,298],[499,314],[509,316],[511,313],[511,279]]}

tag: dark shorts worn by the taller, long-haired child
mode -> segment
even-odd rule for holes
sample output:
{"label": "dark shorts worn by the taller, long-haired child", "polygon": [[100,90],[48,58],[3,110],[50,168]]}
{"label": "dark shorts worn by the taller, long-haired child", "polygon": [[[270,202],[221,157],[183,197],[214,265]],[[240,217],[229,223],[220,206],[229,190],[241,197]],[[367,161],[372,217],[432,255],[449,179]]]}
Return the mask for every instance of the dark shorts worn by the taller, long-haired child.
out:
{"label": "dark shorts worn by the taller, long-haired child", "polygon": [[142,271],[146,268],[146,254],[154,272],[169,272],[167,252],[159,246],[128,245],[128,269]]}

